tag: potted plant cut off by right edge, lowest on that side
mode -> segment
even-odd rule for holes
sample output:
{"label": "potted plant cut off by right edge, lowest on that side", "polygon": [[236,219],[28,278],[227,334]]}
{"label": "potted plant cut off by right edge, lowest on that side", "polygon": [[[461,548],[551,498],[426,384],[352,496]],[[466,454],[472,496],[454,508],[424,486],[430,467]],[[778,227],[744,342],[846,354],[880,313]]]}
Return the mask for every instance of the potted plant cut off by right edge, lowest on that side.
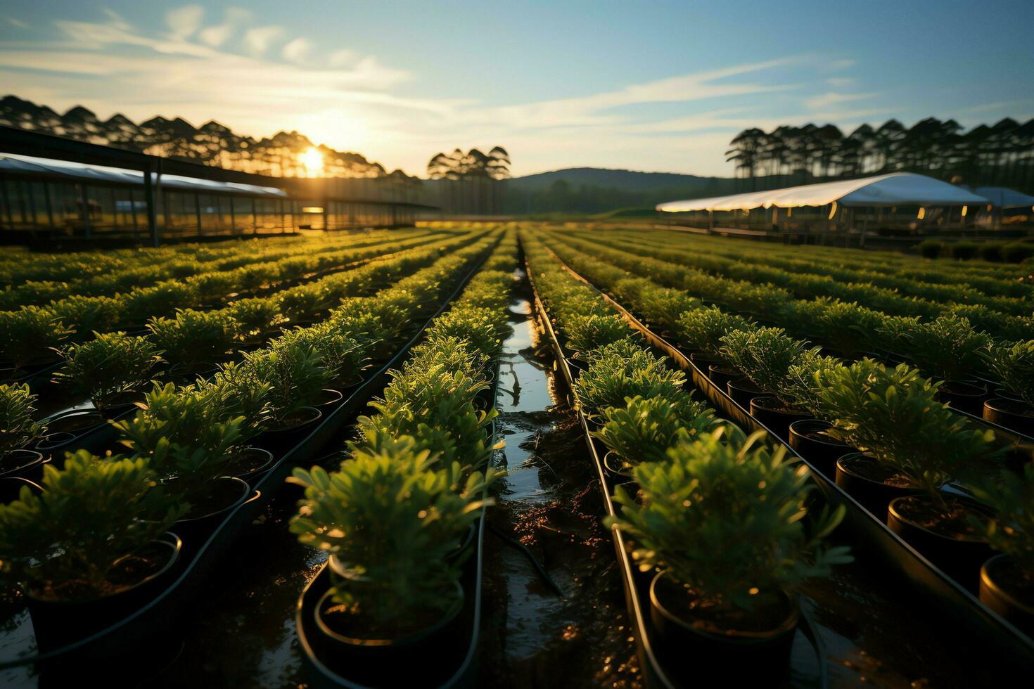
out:
{"label": "potted plant cut off by right edge, lowest on that side", "polygon": [[976,521],[998,555],[980,568],[980,600],[1028,634],[1034,633],[1034,465],[1023,475],[1001,472],[975,481],[973,494],[993,509]]}

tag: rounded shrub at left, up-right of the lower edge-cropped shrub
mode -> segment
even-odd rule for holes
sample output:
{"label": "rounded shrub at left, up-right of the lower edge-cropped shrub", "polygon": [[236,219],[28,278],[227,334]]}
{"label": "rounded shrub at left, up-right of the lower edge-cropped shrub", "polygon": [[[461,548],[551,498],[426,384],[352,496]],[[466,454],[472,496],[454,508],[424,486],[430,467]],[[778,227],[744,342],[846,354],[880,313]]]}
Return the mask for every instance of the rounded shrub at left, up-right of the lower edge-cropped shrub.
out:
{"label": "rounded shrub at left, up-right of the lower edge-cropped shrub", "polygon": [[74,395],[88,397],[97,411],[117,415],[132,406],[161,352],[145,337],[95,333],[92,340],[61,350],[64,367],[54,381]]}

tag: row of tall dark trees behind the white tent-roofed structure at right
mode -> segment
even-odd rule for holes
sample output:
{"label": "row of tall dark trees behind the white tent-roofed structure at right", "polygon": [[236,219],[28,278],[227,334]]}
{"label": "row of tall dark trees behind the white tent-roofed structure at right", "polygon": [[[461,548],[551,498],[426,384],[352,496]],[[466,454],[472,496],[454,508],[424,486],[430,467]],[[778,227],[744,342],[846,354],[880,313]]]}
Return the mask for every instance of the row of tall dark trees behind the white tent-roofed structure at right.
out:
{"label": "row of tall dark trees behind the white tent-roofed structure at right", "polygon": [[1034,120],[1006,118],[969,131],[954,120],[926,118],[863,124],[849,134],[834,125],[746,129],[730,142],[744,190],[909,171],[954,184],[1034,188]]}

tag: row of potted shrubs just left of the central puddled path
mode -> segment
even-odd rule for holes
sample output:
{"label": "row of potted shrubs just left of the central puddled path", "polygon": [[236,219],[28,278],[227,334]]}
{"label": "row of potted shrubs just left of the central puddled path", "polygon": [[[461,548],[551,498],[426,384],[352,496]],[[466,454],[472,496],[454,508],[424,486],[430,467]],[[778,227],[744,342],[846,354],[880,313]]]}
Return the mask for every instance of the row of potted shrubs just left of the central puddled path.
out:
{"label": "row of potted shrubs just left of the central puddled path", "polygon": [[392,372],[337,469],[288,479],[305,491],[292,531],[329,555],[329,583],[303,594],[318,599],[301,622],[315,630],[320,662],[352,682],[426,685],[443,663],[453,671],[449,650],[473,594],[461,566],[500,475],[495,411],[481,406],[508,328],[515,251],[510,233]]}

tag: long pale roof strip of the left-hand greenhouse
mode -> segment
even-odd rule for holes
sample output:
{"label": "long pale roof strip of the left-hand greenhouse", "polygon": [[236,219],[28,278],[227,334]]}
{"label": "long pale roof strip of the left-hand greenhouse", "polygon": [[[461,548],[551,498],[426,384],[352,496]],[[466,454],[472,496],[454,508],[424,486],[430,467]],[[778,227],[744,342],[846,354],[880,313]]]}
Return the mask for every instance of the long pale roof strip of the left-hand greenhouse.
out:
{"label": "long pale roof strip of the left-hand greenhouse", "polygon": [[[69,182],[98,182],[107,184],[144,185],[144,173],[138,169],[122,167],[107,167],[104,165],[87,165],[55,158],[36,158],[13,153],[0,153],[0,173],[16,175],[38,175],[57,178]],[[262,187],[254,184],[237,182],[216,182],[195,177],[179,175],[152,174],[153,180],[159,180],[161,186],[171,189],[197,191],[201,193],[246,194],[249,196],[271,196],[286,198],[287,193],[276,187]]]}

